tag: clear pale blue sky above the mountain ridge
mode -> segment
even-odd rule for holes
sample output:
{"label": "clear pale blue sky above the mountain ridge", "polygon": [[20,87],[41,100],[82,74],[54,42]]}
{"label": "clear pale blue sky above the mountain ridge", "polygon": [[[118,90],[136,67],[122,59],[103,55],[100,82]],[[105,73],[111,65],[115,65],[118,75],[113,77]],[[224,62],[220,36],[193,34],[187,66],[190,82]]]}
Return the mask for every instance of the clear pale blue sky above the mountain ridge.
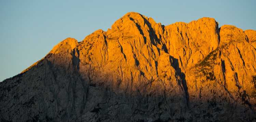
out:
{"label": "clear pale blue sky above the mountain ridge", "polygon": [[212,17],[219,26],[256,30],[255,6],[255,0],[0,0],[0,81],[43,58],[63,39],[81,41],[97,29],[106,31],[127,12],[163,25]]}

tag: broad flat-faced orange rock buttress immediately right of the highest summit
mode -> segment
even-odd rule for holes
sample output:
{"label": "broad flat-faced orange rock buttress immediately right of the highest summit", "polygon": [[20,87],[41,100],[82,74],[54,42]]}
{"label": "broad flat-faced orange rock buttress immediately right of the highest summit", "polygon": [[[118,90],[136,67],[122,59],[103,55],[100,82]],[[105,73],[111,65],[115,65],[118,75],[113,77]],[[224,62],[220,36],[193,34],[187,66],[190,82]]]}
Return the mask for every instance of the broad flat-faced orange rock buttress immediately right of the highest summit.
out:
{"label": "broad flat-faced orange rock buttress immediately right of the highest summit", "polygon": [[179,59],[182,69],[191,68],[218,47],[218,24],[212,18],[201,18],[188,24],[176,22],[166,26],[165,30],[168,52]]}

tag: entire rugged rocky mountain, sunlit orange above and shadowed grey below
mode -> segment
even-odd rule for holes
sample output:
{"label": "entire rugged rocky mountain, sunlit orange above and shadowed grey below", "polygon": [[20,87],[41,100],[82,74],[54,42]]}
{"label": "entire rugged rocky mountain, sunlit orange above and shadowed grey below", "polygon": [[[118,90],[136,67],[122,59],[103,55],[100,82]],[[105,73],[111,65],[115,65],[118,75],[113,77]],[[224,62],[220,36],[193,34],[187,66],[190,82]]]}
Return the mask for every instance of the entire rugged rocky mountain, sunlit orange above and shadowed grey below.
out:
{"label": "entire rugged rocky mountain, sunlit orange above and shadowed grey below", "polygon": [[1,121],[256,121],[256,32],[127,13],[0,83]]}

